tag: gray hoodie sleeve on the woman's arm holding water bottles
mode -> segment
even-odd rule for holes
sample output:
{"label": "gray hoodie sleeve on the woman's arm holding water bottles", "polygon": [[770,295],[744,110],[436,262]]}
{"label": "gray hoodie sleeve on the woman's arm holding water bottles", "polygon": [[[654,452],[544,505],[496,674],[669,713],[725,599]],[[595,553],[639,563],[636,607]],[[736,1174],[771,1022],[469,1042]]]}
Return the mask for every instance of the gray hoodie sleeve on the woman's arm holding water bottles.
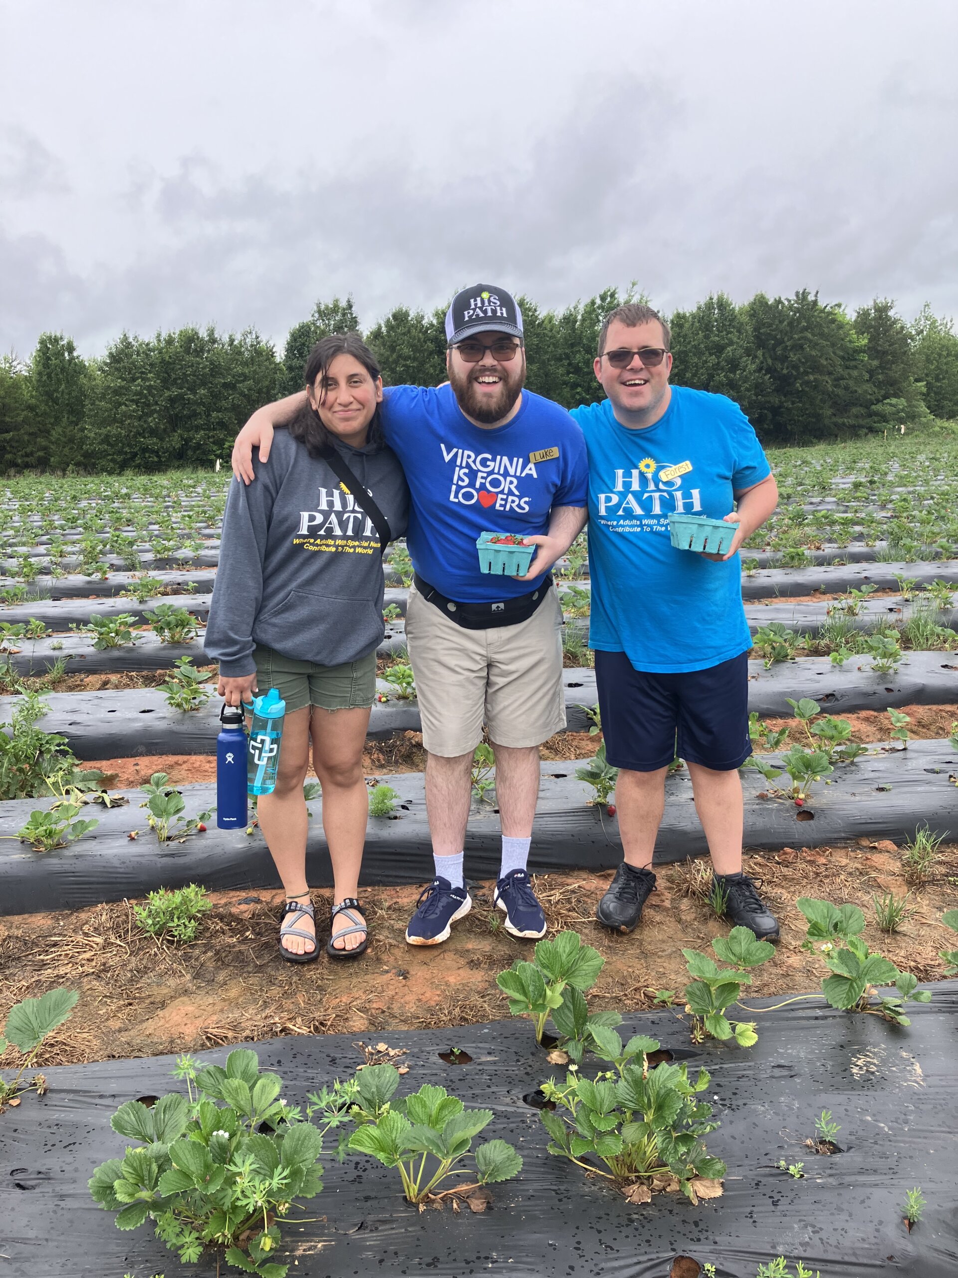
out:
{"label": "gray hoodie sleeve on the woman's arm holding water bottles", "polygon": [[266,542],[278,488],[275,465],[263,465],[258,449],[253,469],[253,483],[234,479],[226,497],[220,564],[203,636],[203,651],[220,663],[220,675],[227,679],[255,671],[253,625],[263,598]]}

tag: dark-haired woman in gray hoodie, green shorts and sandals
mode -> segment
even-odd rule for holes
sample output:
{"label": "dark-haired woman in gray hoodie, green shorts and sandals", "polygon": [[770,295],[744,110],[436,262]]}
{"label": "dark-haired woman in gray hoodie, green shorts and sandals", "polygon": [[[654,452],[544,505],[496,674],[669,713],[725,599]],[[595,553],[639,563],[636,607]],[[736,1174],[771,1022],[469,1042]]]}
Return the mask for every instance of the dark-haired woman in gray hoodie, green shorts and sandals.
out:
{"label": "dark-haired woman in gray hoodie, green shorts and sandals", "polygon": [[[258,483],[230,488],[204,640],[229,705],[271,688],[286,702],[276,789],[257,812],[286,891],[280,953],[290,962],[319,952],[305,878],[310,741],[335,881],[326,950],[353,958],[367,947],[356,891],[369,810],[363,745],[384,634],[382,537],[405,533],[409,504],[382,438],[379,368],[358,334],[317,343],[305,387],[308,406],[277,433],[270,464],[254,458]],[[333,449],[386,516],[382,537],[326,460]]]}

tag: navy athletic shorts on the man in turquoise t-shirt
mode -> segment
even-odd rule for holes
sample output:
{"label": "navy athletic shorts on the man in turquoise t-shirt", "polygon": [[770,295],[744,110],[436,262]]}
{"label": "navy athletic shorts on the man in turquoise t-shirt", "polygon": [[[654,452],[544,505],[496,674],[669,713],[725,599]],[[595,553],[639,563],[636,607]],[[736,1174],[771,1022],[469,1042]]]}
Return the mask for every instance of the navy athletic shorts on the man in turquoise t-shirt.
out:
{"label": "navy athletic shorts on the man in turquoise t-shirt", "polygon": [[651,674],[623,652],[595,653],[605,758],[614,768],[655,772],[678,755],[731,772],[752,753],[749,653],[708,670]]}

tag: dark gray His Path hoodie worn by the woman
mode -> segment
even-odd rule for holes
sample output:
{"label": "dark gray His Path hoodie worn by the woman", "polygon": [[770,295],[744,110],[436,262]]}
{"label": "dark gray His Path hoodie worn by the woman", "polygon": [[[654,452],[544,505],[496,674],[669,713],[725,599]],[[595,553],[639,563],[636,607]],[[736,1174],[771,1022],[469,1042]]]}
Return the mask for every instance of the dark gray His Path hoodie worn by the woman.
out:
{"label": "dark gray His Path hoodie worn by the woman", "polygon": [[[391,449],[337,451],[386,515],[406,530],[409,489]],[[252,675],[257,643],[284,657],[340,666],[382,643],[379,534],[330,466],[277,431],[255,481],[234,479],[203,648],[227,677]]]}

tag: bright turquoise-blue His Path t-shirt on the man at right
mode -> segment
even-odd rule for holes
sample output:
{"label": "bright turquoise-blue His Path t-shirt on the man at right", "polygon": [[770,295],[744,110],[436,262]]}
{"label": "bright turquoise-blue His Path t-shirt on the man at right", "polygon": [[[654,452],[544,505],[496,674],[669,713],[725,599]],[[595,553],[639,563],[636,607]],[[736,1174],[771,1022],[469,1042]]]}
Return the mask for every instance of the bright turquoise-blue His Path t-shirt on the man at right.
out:
{"label": "bright turquoise-blue His Path t-shirt on the man at right", "polygon": [[645,429],[617,422],[609,400],[572,417],[589,450],[589,647],[660,674],[747,652],[738,556],[676,550],[668,516],[724,519],[734,492],[772,473],[749,418],[724,395],[685,386]]}

